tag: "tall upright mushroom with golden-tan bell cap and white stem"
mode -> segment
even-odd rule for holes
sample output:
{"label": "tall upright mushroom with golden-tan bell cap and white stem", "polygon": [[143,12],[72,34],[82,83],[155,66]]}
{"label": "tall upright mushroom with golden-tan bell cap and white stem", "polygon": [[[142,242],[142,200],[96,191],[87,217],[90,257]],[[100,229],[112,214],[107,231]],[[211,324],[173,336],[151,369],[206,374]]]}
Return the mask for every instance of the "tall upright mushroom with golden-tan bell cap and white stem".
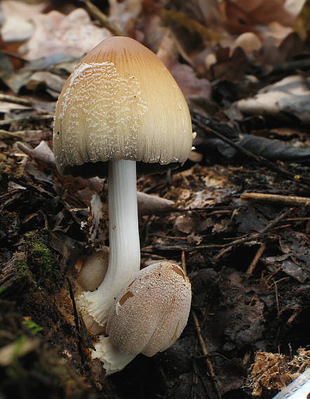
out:
{"label": "tall upright mushroom with golden-tan bell cap and white stem", "polygon": [[58,170],[103,177],[108,169],[109,266],[97,290],[78,301],[102,326],[114,297],[140,269],[136,163],[142,171],[180,165],[191,141],[180,88],[163,62],[132,38],[98,44],[60,93],[53,136]]}

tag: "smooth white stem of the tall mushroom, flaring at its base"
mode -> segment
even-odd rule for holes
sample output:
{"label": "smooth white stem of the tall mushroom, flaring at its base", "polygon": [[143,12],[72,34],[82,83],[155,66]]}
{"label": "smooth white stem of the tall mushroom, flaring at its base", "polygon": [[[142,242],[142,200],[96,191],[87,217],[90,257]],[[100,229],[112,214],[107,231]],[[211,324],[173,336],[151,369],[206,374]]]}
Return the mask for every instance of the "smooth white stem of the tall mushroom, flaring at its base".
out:
{"label": "smooth white stem of the tall mushroom, flaring at its base", "polygon": [[105,279],[78,297],[79,307],[104,327],[114,298],[140,269],[135,161],[109,162],[109,246]]}

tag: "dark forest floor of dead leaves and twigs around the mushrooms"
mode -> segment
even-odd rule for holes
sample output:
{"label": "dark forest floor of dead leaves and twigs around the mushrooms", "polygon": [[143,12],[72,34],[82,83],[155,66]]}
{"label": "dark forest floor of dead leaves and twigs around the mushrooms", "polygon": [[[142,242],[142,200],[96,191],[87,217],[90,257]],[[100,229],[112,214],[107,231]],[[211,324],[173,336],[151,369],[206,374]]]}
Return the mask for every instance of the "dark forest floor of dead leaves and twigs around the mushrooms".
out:
{"label": "dark forest floor of dead leaves and twigs around the mushrooms", "polygon": [[[198,1],[112,1],[93,13],[90,1],[64,3],[25,3],[36,30],[22,41],[1,31],[0,398],[273,398],[310,365],[309,2],[296,15],[278,6],[278,36],[242,1],[224,11],[206,2],[216,21]],[[243,31],[234,3],[248,18]],[[137,180],[141,193],[172,201],[140,203],[142,267],[173,260],[187,269],[189,321],[169,349],[110,377],[90,358],[96,337],[74,300],[92,250],[90,200],[100,195],[106,209],[107,181],[60,175],[51,151],[59,92],[95,44],[83,27],[81,48],[62,36],[81,20],[94,41],[121,31],[161,56],[197,133],[181,168]],[[247,31],[261,48],[235,44]]]}

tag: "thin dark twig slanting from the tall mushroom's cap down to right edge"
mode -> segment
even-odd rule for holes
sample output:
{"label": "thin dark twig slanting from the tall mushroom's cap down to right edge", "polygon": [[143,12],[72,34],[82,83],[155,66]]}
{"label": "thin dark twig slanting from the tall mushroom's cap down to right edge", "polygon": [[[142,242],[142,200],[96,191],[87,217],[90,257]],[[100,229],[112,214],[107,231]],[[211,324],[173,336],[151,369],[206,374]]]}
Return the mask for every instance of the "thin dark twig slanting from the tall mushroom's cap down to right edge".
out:
{"label": "thin dark twig slanting from the tall mushroom's cap down to right edge", "polygon": [[281,167],[278,167],[274,162],[271,162],[267,160],[267,158],[264,158],[259,155],[255,155],[251,153],[248,150],[245,150],[242,146],[239,146],[239,144],[234,143],[234,141],[228,139],[227,137],[223,136],[220,132],[217,132],[217,130],[214,129],[213,123],[210,119],[208,118],[203,118],[203,122],[201,122],[202,117],[198,113],[193,113],[193,122],[200,127],[202,130],[205,132],[213,134],[215,137],[218,139],[221,139],[225,143],[229,144],[229,146],[236,148],[236,150],[240,151],[244,155],[246,155],[248,158],[255,160],[260,165],[263,165],[264,167],[268,167],[269,169],[273,170],[274,172],[281,174],[285,176],[286,178],[292,180],[292,181],[299,181],[302,183],[310,184],[310,179],[303,177],[303,176],[296,176],[295,174],[292,174],[285,169],[282,169]]}

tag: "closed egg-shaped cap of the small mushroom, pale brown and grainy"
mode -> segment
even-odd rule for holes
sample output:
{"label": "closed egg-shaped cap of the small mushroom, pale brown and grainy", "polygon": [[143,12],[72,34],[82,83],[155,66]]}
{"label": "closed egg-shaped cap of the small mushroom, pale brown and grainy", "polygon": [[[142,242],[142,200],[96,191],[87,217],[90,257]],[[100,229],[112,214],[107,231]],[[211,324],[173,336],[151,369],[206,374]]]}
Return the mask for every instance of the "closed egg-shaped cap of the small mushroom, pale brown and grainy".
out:
{"label": "closed egg-shaped cap of the small mushroom, pale brown and grainy", "polygon": [[121,353],[154,356],[180,337],[191,307],[191,283],[181,267],[162,261],[140,270],[109,311],[107,333]]}

